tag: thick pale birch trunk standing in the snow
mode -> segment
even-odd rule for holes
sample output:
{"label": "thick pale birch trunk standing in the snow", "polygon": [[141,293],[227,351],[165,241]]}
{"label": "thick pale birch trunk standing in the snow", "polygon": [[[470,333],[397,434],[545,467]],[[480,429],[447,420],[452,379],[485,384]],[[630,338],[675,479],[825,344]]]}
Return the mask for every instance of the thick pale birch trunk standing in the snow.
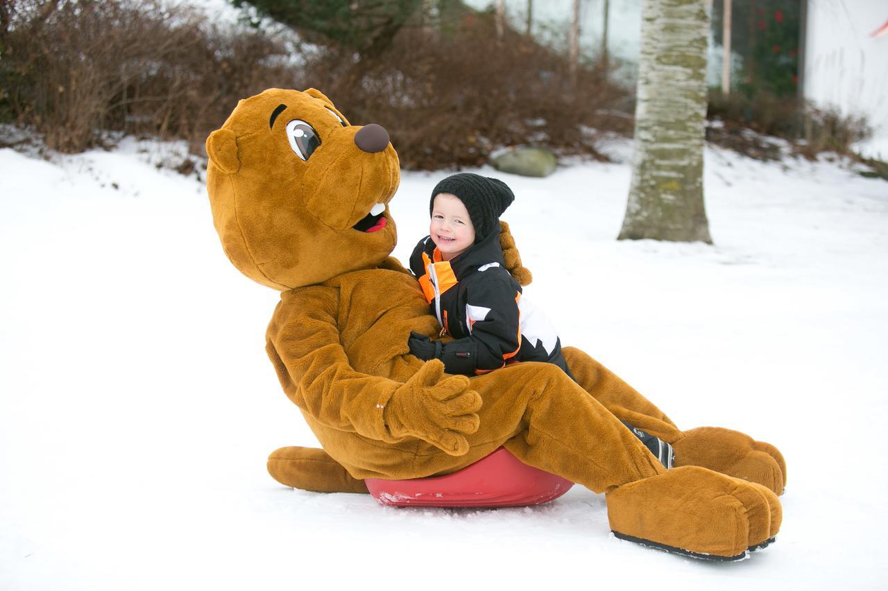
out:
{"label": "thick pale birch trunk standing in the snow", "polygon": [[642,0],[635,151],[619,240],[709,244],[703,207],[704,0]]}

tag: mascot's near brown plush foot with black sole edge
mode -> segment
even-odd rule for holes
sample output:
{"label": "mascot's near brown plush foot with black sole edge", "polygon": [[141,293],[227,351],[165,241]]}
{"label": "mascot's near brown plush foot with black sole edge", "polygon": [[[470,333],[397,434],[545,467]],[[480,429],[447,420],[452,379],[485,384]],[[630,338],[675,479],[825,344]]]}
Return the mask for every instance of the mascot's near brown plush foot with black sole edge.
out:
{"label": "mascot's near brown plush foot with black sole edge", "polygon": [[696,558],[740,560],[773,541],[782,512],[765,486],[686,467],[607,493],[607,518],[624,540]]}

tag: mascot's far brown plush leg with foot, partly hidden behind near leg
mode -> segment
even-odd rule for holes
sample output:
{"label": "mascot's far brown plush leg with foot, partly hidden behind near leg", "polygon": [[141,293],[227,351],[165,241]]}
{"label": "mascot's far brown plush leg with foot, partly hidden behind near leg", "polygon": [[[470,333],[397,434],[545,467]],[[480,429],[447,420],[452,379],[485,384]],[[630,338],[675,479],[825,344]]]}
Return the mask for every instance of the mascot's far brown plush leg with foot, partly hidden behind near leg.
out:
{"label": "mascot's far brown plush leg with foot, partly hidden behind near leg", "polygon": [[676,466],[702,466],[765,485],[777,494],[783,492],[786,462],[773,445],[718,427],[681,431],[659,408],[607,367],[574,347],[565,347],[562,351],[583,390],[623,421],[672,445]]}

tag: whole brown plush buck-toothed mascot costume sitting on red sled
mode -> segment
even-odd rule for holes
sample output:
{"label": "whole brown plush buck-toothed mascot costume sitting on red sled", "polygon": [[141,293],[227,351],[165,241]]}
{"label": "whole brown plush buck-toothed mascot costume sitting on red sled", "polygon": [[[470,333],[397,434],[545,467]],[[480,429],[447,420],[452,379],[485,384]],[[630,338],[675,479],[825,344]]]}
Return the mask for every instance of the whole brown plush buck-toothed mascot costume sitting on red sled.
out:
{"label": "whole brown plush buck-toothed mascot costume sitting on red sled", "polygon": [[[222,246],[281,292],[266,350],[322,450],[284,447],[268,470],[309,491],[366,493],[366,478],[445,475],[505,447],[525,464],[606,493],[620,538],[738,559],[781,524],[781,453],[740,432],[680,430],[577,349],[558,366],[519,363],[471,379],[408,350],[440,327],[390,256],[398,156],[381,126],[352,125],[321,92],[271,89],[238,103],[207,139]],[[506,265],[527,282],[503,225]],[[664,469],[622,421],[673,445]]]}

